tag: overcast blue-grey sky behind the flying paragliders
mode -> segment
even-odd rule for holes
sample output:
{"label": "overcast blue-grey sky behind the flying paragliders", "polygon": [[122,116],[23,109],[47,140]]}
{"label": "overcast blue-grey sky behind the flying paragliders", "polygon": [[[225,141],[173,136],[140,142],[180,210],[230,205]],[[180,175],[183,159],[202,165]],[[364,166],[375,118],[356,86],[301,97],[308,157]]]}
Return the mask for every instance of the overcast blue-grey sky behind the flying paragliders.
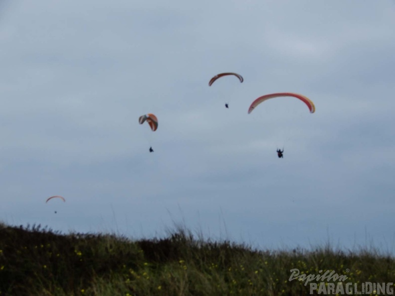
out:
{"label": "overcast blue-grey sky behind the flying paragliders", "polygon": [[1,1],[1,221],[395,254],[395,1]]}

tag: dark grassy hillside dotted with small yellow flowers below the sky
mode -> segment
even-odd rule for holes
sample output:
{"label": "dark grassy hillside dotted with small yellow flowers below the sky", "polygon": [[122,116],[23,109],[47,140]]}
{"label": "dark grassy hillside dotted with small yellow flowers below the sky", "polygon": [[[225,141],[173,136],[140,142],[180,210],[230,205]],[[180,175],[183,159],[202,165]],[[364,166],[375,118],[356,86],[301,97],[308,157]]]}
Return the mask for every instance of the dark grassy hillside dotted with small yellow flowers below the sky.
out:
{"label": "dark grassy hillside dotted with small yellow flowers below the sky", "polygon": [[[292,269],[300,275],[334,271],[353,287],[395,282],[395,259],[374,249],[261,251],[204,241],[181,227],[166,238],[132,241],[0,224],[0,296],[310,295],[305,281],[289,281]],[[320,282],[327,282],[321,289],[339,284],[312,281]]]}

